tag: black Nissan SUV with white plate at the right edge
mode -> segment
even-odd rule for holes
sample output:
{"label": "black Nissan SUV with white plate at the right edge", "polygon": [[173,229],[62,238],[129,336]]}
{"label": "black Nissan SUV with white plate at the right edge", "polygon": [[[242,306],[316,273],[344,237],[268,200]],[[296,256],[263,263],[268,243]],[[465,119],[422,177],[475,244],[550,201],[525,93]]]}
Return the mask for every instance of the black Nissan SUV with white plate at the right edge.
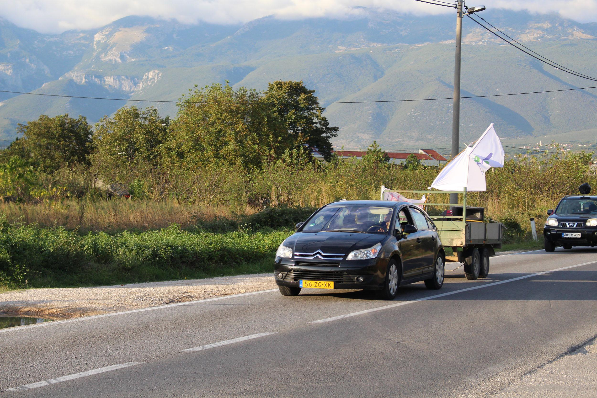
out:
{"label": "black Nissan SUV with white plate at the right edge", "polygon": [[556,246],[597,246],[597,196],[564,196],[547,215],[545,251],[552,252]]}

